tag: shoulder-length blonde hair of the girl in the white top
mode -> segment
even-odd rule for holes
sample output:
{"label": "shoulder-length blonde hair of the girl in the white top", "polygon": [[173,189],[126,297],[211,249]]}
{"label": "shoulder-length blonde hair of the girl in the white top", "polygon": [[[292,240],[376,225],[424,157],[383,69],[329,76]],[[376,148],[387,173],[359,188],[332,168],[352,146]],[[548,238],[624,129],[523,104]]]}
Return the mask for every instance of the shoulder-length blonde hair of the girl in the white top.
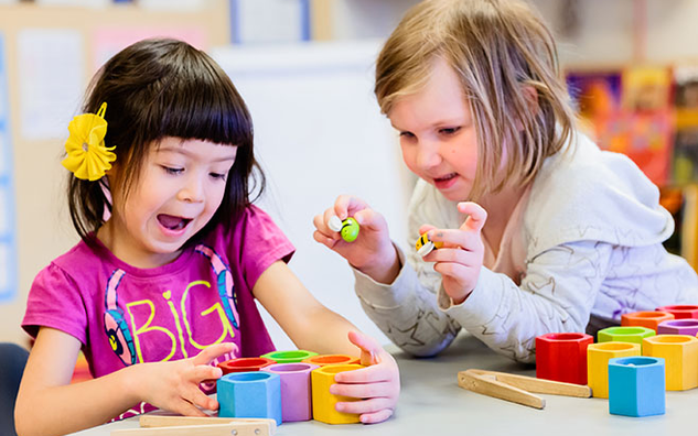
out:
{"label": "shoulder-length blonde hair of the girl in the white top", "polygon": [[411,8],[376,62],[374,91],[383,113],[425,86],[436,58],[460,77],[475,119],[472,199],[533,181],[545,157],[572,139],[574,112],[555,41],[524,3],[426,0]]}

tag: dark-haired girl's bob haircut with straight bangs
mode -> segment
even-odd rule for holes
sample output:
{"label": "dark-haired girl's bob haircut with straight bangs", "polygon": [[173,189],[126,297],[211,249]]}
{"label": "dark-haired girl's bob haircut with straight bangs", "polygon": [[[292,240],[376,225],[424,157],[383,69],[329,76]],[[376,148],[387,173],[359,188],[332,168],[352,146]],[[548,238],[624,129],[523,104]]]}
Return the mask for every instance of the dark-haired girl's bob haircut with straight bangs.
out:
{"label": "dark-haired girl's bob haircut with straight bangs", "polygon": [[116,146],[119,177],[108,186],[106,177],[83,181],[71,174],[68,205],[80,238],[94,243],[96,230],[111,211],[110,189],[125,197],[139,181],[150,146],[167,137],[237,145],[226,192],[211,221],[191,239],[198,240],[218,224],[227,229],[258,197],[265,176],[254,155],[253,121],[230,78],[207,54],[190,44],[170,40],[144,40],[111,57],[93,78],[84,112],[97,113],[107,102],[105,145]]}

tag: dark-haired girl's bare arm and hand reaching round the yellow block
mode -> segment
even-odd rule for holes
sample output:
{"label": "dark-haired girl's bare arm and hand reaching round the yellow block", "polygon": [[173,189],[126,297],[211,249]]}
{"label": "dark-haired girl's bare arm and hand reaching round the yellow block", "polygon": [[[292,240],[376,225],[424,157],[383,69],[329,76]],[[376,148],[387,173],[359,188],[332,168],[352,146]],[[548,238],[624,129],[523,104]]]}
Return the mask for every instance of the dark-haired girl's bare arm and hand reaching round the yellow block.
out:
{"label": "dark-haired girl's bare arm and hand reaching round the yellow block", "polygon": [[299,349],[361,356],[362,363],[369,366],[335,375],[337,383],[332,385],[332,393],[363,399],[337,403],[337,411],[359,414],[363,423],[390,417],[400,391],[399,370],[393,356],[320,304],[281,261],[272,263],[259,276],[253,293]]}

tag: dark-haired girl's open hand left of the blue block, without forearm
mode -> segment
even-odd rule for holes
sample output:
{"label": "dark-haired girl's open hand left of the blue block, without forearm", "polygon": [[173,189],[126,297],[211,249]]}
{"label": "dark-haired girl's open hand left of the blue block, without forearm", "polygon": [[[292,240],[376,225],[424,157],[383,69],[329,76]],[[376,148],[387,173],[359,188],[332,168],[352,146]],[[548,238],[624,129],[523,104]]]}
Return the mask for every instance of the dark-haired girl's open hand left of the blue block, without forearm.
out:
{"label": "dark-haired girl's open hand left of the blue block, without forearm", "polygon": [[135,372],[133,385],[139,396],[155,407],[184,416],[206,416],[198,407],[215,411],[218,402],[203,393],[198,385],[223,375],[210,363],[233,351],[230,342],[216,344],[196,357],[171,362],[141,363],[129,367]]}

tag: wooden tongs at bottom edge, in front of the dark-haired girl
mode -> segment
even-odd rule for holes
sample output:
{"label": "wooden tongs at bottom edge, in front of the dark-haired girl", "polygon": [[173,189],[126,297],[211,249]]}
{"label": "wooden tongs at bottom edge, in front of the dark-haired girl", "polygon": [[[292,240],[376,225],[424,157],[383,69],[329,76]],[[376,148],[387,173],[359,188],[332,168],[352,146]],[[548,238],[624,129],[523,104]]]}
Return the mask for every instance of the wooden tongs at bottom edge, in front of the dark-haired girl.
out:
{"label": "wooden tongs at bottom edge, in front of the dark-haired girl", "polygon": [[116,429],[111,436],[272,436],[273,419],[143,415],[141,428]]}

